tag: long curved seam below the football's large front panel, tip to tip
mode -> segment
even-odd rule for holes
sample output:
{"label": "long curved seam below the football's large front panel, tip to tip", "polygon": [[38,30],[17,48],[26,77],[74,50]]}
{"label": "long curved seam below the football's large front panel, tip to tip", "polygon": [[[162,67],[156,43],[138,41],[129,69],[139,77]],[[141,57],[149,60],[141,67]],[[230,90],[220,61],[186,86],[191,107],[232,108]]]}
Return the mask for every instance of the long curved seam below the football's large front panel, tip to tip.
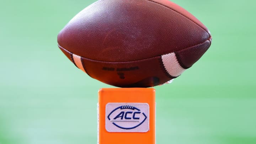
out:
{"label": "long curved seam below the football's large front panel, tip to tip", "polygon": [[[209,40],[207,39],[206,41],[204,41],[204,42],[202,42],[202,43],[195,44],[195,45],[193,45],[193,46],[186,47],[186,48],[183,48],[183,49],[180,49],[180,50],[186,50],[186,49],[189,49],[189,48],[198,46],[198,45],[200,45],[200,44],[203,44],[203,43],[205,43],[205,42],[207,42],[207,41],[209,41]],[[61,47],[61,48],[63,48],[64,50],[66,50],[64,47],[60,46],[59,44],[58,44],[58,46]],[[179,52],[180,50],[175,51],[175,52]],[[70,52],[69,50],[66,50],[66,51],[67,51],[67,52]],[[175,52],[170,52],[170,53],[175,53]],[[72,53],[72,52],[70,52],[70,53]],[[72,53],[72,54],[73,54],[73,53]],[[169,54],[169,53],[166,53],[166,54]],[[78,55],[78,54],[76,54],[76,55]],[[85,57],[82,57],[81,55],[78,55],[78,56],[80,56],[81,58],[85,58],[85,59],[89,59],[89,60],[94,60],[94,61],[96,61],[96,62],[127,63],[127,62],[136,62],[136,61],[140,61],[140,60],[146,60],[146,59],[152,59],[152,58],[156,58],[156,57],[161,57],[162,55],[165,55],[165,54],[161,54],[161,55],[158,55],[158,56],[155,56],[155,57],[150,57],[150,58],[145,58],[145,59],[132,60],[132,61],[124,61],[124,62],[108,62],[108,61],[102,61],[102,60],[95,60],[95,59],[85,58]],[[73,59],[73,57],[72,57],[72,59]],[[74,61],[74,60],[73,60],[73,61]],[[74,63],[74,62],[73,62],[73,63]],[[185,69],[185,68],[184,68],[184,69]]]}

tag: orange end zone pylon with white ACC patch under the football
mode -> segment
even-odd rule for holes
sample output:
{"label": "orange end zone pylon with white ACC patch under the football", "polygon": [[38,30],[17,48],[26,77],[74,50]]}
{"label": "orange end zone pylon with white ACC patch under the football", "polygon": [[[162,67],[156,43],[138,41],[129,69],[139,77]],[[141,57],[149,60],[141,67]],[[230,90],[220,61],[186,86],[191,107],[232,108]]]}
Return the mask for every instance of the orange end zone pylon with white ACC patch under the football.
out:
{"label": "orange end zone pylon with white ACC patch under the football", "polygon": [[155,89],[100,89],[98,144],[155,144]]}

